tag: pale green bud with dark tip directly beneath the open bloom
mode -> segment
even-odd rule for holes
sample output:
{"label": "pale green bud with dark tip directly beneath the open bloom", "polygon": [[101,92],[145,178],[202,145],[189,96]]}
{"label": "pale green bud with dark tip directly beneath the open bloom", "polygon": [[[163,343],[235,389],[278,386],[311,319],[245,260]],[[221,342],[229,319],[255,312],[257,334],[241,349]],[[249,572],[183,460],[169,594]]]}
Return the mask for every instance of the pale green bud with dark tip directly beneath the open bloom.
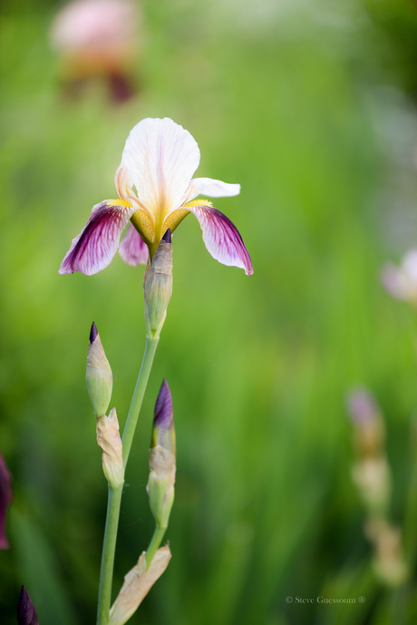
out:
{"label": "pale green bud with dark tip directly beneath the open bloom", "polygon": [[167,316],[172,295],[172,244],[170,229],[160,240],[152,259],[148,275],[144,280],[145,324],[150,337],[159,335]]}

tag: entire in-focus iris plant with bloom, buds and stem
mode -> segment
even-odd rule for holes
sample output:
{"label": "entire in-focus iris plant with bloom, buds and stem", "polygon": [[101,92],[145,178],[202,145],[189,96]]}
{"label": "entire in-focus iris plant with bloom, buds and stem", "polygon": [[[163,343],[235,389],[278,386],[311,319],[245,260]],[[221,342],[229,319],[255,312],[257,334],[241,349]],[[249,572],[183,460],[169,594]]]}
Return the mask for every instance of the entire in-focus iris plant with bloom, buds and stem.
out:
{"label": "entire in-focus iris plant with bloom, buds and stem", "polygon": [[[167,316],[172,293],[174,230],[190,213],[202,229],[214,259],[253,273],[247,248],[236,226],[200,193],[211,198],[238,195],[240,186],[209,178],[192,178],[199,166],[199,146],[190,133],[169,118],[139,122],[126,141],[114,183],[117,200],[103,200],[73,239],[60,273],[92,275],[107,267],[119,249],[121,259],[146,264],[143,278],[146,347],[123,435],[116,410],[106,415],[112,396],[112,369],[97,328],[92,326],[87,358],[87,387],[97,418],[103,473],[109,498],[104,530],[97,625],[123,625],[170,561],[169,547],[160,548],[174,498],[175,432],[170,388],[163,382],[155,406],[150,445],[148,494],[156,527],[147,552],[125,576],[111,608],[112,571],[124,473],[150,377],[150,369]],[[125,237],[122,231],[128,226]]]}

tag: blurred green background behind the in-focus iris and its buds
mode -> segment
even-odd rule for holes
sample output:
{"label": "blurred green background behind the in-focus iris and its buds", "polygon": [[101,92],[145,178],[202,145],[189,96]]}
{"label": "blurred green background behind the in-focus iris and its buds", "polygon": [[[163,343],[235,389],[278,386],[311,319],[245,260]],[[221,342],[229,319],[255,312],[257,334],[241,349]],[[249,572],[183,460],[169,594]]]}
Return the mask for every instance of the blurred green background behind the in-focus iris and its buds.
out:
{"label": "blurred green background behind the in-focus iris and its buds", "polygon": [[[411,0],[146,0],[138,93],[63,96],[48,33],[62,6],[1,8],[0,451],[14,478],[0,621],[21,584],[41,625],[95,620],[106,484],[84,384],[92,321],[124,424],[144,347],[142,268],[58,269],[92,205],[112,198],[131,127],[169,116],[255,273],[176,231],[174,294],[132,447],[114,590],[153,531],[145,486],[162,377],[178,440],[168,570],[141,625],[384,625],[417,620],[416,323],[380,285],[417,244],[417,7]],[[392,520],[409,528],[402,588],[375,576],[351,480],[344,398],[383,409]],[[301,598],[357,598],[300,605]],[[286,597],[292,596],[293,603]]]}

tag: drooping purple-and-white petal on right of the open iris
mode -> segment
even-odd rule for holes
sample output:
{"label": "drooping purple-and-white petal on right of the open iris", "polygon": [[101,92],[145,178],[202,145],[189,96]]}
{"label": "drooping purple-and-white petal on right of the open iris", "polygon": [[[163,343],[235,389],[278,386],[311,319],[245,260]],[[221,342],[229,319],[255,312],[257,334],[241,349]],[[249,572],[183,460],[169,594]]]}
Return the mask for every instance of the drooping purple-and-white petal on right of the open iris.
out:
{"label": "drooping purple-and-white petal on right of the open iris", "polygon": [[199,220],[203,241],[213,259],[223,265],[245,269],[247,276],[254,272],[245,243],[236,226],[220,210],[207,206],[187,206]]}

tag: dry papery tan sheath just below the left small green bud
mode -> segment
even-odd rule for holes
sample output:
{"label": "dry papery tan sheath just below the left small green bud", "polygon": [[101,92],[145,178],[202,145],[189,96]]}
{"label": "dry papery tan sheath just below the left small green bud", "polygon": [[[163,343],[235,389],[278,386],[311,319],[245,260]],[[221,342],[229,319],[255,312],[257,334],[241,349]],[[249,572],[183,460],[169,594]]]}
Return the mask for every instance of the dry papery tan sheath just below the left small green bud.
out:
{"label": "dry papery tan sheath just below the left small green bud", "polygon": [[102,471],[112,488],[124,482],[121,435],[116,408],[110,415],[97,417],[97,443],[102,447]]}

